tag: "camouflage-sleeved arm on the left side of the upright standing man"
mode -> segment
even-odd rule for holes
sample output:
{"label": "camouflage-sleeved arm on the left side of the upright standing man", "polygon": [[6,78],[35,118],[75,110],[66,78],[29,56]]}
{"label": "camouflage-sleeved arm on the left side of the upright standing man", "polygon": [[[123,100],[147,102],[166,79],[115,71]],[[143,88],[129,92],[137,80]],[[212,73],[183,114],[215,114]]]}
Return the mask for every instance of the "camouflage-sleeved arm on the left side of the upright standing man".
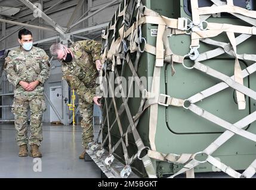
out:
{"label": "camouflage-sleeved arm on the left side of the upright standing man", "polygon": [[17,75],[16,71],[14,70],[14,58],[15,53],[10,51],[8,56],[5,58],[4,70],[7,72],[7,79],[13,84],[15,87],[20,83],[21,78]]}

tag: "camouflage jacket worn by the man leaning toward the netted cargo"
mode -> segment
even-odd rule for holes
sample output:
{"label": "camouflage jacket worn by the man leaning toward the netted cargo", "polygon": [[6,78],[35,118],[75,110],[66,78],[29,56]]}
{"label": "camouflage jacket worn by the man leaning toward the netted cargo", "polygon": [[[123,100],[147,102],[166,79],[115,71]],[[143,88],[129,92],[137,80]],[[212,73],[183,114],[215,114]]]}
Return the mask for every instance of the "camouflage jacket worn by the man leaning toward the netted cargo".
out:
{"label": "camouflage jacket worn by the man leaning toward the netted cargo", "polygon": [[95,61],[100,60],[101,44],[94,40],[81,40],[70,46],[72,62],[62,62],[63,79],[82,100],[92,103],[96,94],[98,71]]}

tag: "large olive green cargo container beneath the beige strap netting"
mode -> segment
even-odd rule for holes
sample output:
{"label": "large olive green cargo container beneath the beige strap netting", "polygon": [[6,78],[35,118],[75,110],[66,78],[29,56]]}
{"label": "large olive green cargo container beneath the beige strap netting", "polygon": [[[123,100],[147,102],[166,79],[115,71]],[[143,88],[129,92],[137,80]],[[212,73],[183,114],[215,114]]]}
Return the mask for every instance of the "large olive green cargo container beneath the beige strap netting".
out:
{"label": "large olive green cargo container beneath the beige strap netting", "polygon": [[[209,7],[213,3],[208,0],[201,0],[199,2],[199,7]],[[191,6],[189,0],[144,0],[141,1],[143,5],[147,8],[152,9],[153,11],[158,12],[161,15],[164,15],[168,18],[190,18],[191,17]],[[128,10],[130,11],[127,15],[132,15],[129,18],[128,24],[131,24],[136,21],[137,9],[136,1],[127,1]],[[246,8],[246,1],[234,1],[234,4]],[[251,9],[255,8],[256,2],[251,1]],[[247,5],[248,6],[248,5]],[[133,8],[134,7],[134,8]],[[124,2],[121,4],[121,10],[124,8]],[[248,7],[247,7],[248,8]],[[132,11],[131,11],[132,10]],[[119,37],[118,29],[121,28],[123,18],[117,17],[119,11],[117,11],[115,17],[112,19],[112,24],[115,23],[115,19],[118,20],[116,24],[116,30],[109,31],[108,44],[109,47],[112,43],[112,40],[116,40]],[[220,17],[221,16],[221,17]],[[218,18],[220,17],[220,18]],[[129,23],[130,21],[130,23]],[[250,26],[249,24],[241,21],[240,19],[234,17],[230,14],[221,14],[215,15],[207,20],[211,23],[226,23],[226,24],[235,24],[241,26]],[[110,26],[112,26],[110,24]],[[109,28],[110,28],[109,26]],[[127,26],[127,28],[129,27]],[[142,36],[146,39],[146,42],[149,45],[156,46],[156,34],[158,26],[156,24],[143,24],[142,25]],[[115,32],[115,34],[114,34]],[[114,38],[113,37],[114,34]],[[169,44],[172,51],[177,55],[187,55],[190,51],[190,35],[180,34],[173,35],[168,37]],[[217,37],[214,37],[214,40],[220,42],[229,43],[229,39],[226,34],[220,34]],[[255,36],[252,36],[249,40],[246,40],[241,45],[238,46],[238,53],[255,53]],[[127,44],[128,45],[128,44]],[[199,52],[206,52],[207,50],[215,49],[215,46],[206,45],[205,43],[200,43]],[[142,49],[143,47],[141,47]],[[128,53],[131,56],[132,61],[134,61],[136,52]],[[147,91],[151,90],[152,81],[150,77],[153,76],[153,71],[155,68],[155,55],[152,55],[147,52],[141,53],[140,61],[138,62],[138,77],[145,76],[147,77]],[[122,58],[121,58],[121,61]],[[189,58],[186,58],[186,64],[189,62]],[[252,65],[252,61],[240,61],[240,66],[242,69],[245,69],[247,66]],[[110,60],[106,61],[107,73],[111,72],[112,62]],[[224,53],[221,56],[216,58],[203,61],[204,65],[210,66],[211,68],[226,74],[227,76],[234,75],[234,64],[235,58]],[[197,69],[186,69],[182,64],[174,64],[175,74],[172,75],[171,64],[165,63],[161,68],[161,85],[160,93],[168,94],[171,97],[176,97],[178,99],[187,99],[193,96],[196,93],[199,93],[209,87],[212,87],[215,84],[221,82],[217,78],[210,77],[205,73],[198,71]],[[122,65],[116,66],[116,72],[119,76],[125,78],[131,77],[132,72],[129,68],[127,62],[122,62]],[[116,76],[115,76],[116,77]],[[256,75],[251,74],[248,77],[245,77],[243,83],[246,87],[256,90]],[[136,85],[136,84],[134,84]],[[116,85],[115,85],[116,87]],[[128,87],[127,87],[128,88]],[[134,87],[135,88],[135,87]],[[140,94],[141,96],[141,94]],[[116,106],[119,109],[122,105],[122,99],[115,97]],[[111,97],[105,99],[108,106],[112,101]],[[133,97],[128,99],[128,106],[131,111],[131,115],[134,116],[138,112],[140,107],[141,97]],[[197,106],[202,109],[207,110],[215,116],[218,116],[221,119],[229,122],[230,124],[235,124],[240,119],[245,118],[252,112],[256,110],[256,100],[251,99],[246,96],[246,109],[239,110],[236,103],[235,90],[231,87],[226,88],[225,90],[220,91],[212,96],[203,99],[202,101],[196,103]],[[115,107],[110,106],[108,112],[109,115],[109,124],[112,125],[116,119]],[[104,107],[103,119],[106,119],[107,111]],[[216,125],[201,116],[196,115],[190,110],[184,109],[184,107],[174,107],[174,106],[162,106],[158,105],[158,115],[155,115],[158,118],[156,133],[155,133],[155,145],[156,151],[160,153],[173,153],[173,154],[183,154],[183,153],[198,153],[204,150],[208,145],[210,145],[216,138],[218,138],[226,129],[222,128],[219,125]],[[129,121],[127,112],[122,112],[120,115],[120,120],[124,132],[127,130]],[[137,131],[140,134],[141,139],[145,146],[150,147],[149,141],[149,121],[150,121],[150,107],[140,116],[140,121],[137,125]],[[103,126],[103,139],[107,137],[108,128],[107,122]],[[246,131],[256,134],[256,124],[255,122],[246,127]],[[111,134],[111,144],[115,145],[121,138],[118,123],[115,122],[113,128],[110,130]],[[125,140],[125,138],[124,138]],[[134,142],[134,137],[130,133],[128,135],[128,154],[131,157],[133,154],[137,153],[138,149]],[[107,149],[109,147],[108,141],[104,145]],[[114,152],[116,159],[124,163],[124,153],[122,145],[120,144]],[[229,141],[221,145],[212,154],[213,157],[216,157],[221,160],[222,163],[225,163],[227,166],[232,167],[235,170],[245,170],[256,158],[256,143],[254,141],[248,140],[247,138],[241,137],[240,135],[234,135],[230,138]],[[205,160],[201,154],[198,157],[198,160]],[[158,177],[165,175],[171,175],[172,173],[178,172],[183,167],[183,164],[161,162],[155,159],[152,159],[153,166],[155,167]],[[144,165],[141,160],[136,159],[131,164],[133,172],[141,177],[146,177],[147,173],[144,169]],[[195,172],[212,172],[215,171],[215,167],[212,164],[206,162],[202,163],[199,166],[195,167]]]}

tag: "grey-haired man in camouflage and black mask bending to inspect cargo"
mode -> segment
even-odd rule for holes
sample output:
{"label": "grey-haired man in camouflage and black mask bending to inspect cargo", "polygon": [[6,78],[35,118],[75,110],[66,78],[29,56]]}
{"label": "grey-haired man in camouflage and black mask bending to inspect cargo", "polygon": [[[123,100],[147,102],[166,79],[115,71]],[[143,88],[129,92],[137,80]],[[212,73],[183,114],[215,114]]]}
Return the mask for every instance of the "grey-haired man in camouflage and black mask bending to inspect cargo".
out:
{"label": "grey-haired man in camouflage and black mask bending to inspect cargo", "polygon": [[[93,102],[100,105],[97,100],[98,77],[97,68],[101,68],[100,53],[101,44],[94,40],[82,40],[73,43],[69,49],[60,43],[50,47],[50,52],[62,62],[63,79],[67,81],[79,97],[80,113],[82,115],[82,146],[86,150],[88,143],[93,140]],[[67,54],[70,60],[67,60]],[[96,68],[97,67],[97,68]],[[84,159],[85,151],[79,156]],[[86,160],[86,159],[85,159]]]}

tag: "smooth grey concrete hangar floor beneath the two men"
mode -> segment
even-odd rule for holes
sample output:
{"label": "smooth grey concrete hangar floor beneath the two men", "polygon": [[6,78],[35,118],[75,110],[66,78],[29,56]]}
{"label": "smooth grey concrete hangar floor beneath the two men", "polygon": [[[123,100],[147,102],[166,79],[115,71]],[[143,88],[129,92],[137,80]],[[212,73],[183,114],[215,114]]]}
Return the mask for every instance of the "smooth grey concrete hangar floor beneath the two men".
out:
{"label": "smooth grey concrete hangar floor beneath the two men", "polygon": [[44,124],[42,172],[33,170],[38,160],[18,157],[14,137],[14,125],[0,124],[0,178],[100,178],[94,162],[78,159],[83,150],[80,126]]}

